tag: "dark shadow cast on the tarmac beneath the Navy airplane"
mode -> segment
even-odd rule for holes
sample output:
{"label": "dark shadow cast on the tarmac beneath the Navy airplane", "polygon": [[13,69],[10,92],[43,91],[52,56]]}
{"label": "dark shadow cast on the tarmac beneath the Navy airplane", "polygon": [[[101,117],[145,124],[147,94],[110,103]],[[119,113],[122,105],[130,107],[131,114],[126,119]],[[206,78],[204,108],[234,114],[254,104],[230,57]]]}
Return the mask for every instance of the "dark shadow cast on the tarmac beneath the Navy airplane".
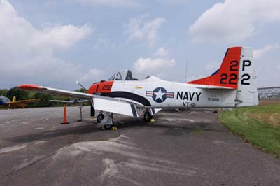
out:
{"label": "dark shadow cast on the tarmac beneath the Navy airplane", "polygon": [[[159,116],[160,117],[160,116]],[[157,120],[157,117],[155,117]],[[90,134],[96,132],[106,132],[106,130],[102,130],[102,127],[97,126],[97,124],[86,121],[87,125],[83,125],[80,127],[71,127],[66,129],[56,129],[50,131],[41,131],[36,134],[27,134],[23,136],[15,136],[12,138],[4,138],[3,140],[18,142],[18,143],[27,143],[31,141],[41,141],[46,140],[48,138],[57,138],[68,135],[76,135],[76,134]],[[170,124],[169,124],[170,123]],[[224,132],[225,129],[211,129],[209,127],[208,122],[193,122],[193,123],[181,123],[179,121],[175,122],[144,122],[139,118],[122,118],[121,120],[116,120],[116,124],[118,130],[121,129],[132,129],[132,128],[141,128],[141,127],[151,127],[151,128],[165,128],[167,131],[162,133],[162,135],[169,136],[181,136],[184,134],[190,134],[194,131],[216,131],[216,132]],[[109,132],[109,131],[107,131]]]}

